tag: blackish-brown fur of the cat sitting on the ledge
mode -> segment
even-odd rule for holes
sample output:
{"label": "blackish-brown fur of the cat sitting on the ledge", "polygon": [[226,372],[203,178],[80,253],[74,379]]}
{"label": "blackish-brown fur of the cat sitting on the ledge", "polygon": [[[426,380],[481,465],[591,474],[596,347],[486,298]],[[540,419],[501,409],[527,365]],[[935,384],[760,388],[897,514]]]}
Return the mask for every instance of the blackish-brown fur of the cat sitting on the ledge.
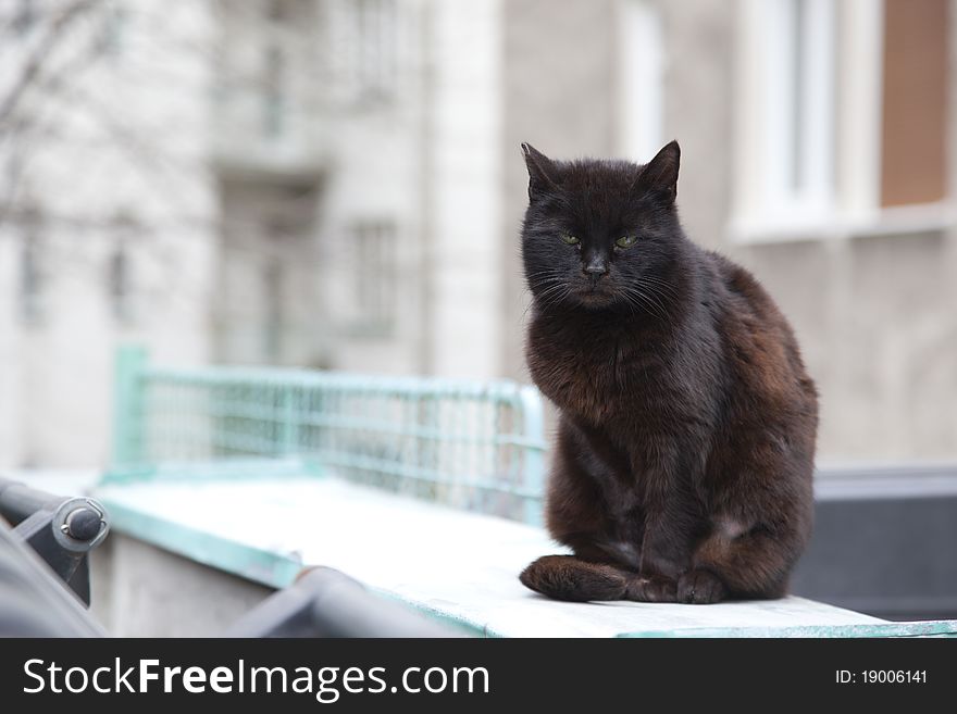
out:
{"label": "blackish-brown fur of the cat sitting on the ledge", "polygon": [[547,525],[574,555],[522,583],[574,601],[780,597],[811,529],[818,422],[791,327],[685,237],[678,143],[644,166],[523,149],[526,354],[560,411]]}

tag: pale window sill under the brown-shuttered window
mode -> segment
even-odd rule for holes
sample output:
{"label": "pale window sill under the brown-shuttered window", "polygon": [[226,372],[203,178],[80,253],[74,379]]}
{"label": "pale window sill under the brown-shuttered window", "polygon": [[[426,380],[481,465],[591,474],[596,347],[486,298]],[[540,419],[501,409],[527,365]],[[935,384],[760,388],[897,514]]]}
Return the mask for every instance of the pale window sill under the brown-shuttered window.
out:
{"label": "pale window sill under the brown-shuttered window", "polygon": [[957,209],[949,201],[894,206],[872,215],[850,217],[832,213],[810,220],[786,221],[778,216],[732,222],[728,230],[735,246],[766,246],[874,236],[924,235],[957,226]]}

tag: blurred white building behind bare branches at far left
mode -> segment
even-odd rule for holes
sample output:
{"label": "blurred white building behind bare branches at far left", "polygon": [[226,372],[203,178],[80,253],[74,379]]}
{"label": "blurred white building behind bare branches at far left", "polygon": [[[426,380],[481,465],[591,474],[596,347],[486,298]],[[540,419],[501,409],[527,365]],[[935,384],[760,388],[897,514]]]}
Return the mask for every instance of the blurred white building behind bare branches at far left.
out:
{"label": "blurred white building behind bare branches at far left", "polygon": [[0,26],[0,466],[102,464],[114,346],[211,355],[214,75],[183,48],[215,24],[200,3],[37,0]]}

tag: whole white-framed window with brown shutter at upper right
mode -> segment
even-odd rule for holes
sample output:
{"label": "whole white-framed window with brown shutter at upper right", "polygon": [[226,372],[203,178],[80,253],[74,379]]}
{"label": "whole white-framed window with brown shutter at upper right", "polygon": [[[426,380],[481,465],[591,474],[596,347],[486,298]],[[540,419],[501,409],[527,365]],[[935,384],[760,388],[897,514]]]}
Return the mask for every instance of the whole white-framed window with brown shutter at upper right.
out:
{"label": "whole white-framed window with brown shutter at upper right", "polygon": [[732,234],[944,221],[947,0],[743,0]]}

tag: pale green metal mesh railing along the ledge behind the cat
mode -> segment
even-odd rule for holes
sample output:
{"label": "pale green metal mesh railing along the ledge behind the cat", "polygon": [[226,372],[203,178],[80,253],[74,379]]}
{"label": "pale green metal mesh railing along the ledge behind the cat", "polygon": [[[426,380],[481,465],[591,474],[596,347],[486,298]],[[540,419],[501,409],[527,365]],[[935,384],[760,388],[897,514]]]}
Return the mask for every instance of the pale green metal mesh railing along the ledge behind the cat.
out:
{"label": "pale green metal mesh railing along the ledge behind the cat", "polygon": [[116,360],[105,483],[336,475],[539,524],[542,399],[508,380]]}

